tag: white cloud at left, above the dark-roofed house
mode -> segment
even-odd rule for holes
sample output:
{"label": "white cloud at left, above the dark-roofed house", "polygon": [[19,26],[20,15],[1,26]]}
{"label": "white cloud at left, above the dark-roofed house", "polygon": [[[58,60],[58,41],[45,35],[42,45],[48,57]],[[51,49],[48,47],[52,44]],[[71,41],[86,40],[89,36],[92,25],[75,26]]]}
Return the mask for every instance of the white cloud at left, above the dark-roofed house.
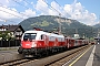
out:
{"label": "white cloud at left, above the dark-roofed house", "polygon": [[0,24],[18,24],[22,20],[34,15],[36,11],[32,9],[24,10],[23,12],[18,12],[14,8],[8,8],[6,6],[0,7]]}

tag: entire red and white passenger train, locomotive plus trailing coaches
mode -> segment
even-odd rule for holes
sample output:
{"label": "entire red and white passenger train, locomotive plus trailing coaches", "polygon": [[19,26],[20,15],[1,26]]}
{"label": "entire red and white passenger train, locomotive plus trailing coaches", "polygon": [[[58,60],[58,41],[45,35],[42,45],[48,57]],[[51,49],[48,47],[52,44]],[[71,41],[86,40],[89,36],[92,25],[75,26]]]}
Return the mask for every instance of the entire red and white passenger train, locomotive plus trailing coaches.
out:
{"label": "entire red and white passenger train, locomotive plus trailing coaches", "polygon": [[32,30],[23,33],[18,52],[23,55],[38,56],[67,51],[86,44],[88,44],[87,40],[76,40],[54,33]]}

